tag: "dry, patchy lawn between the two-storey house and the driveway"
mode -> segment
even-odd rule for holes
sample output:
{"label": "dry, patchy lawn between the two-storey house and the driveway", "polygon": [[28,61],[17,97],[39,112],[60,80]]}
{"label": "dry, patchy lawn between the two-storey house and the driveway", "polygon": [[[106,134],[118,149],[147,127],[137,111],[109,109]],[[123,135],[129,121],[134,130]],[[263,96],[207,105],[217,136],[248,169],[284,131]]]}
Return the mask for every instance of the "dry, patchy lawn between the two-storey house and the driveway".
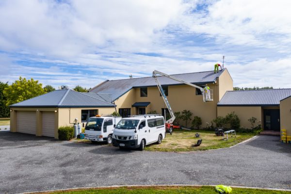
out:
{"label": "dry, patchy lawn between the two-storey house and the driveway", "polygon": [[[195,134],[199,133],[200,137],[196,138]],[[236,137],[228,135],[228,141],[223,141],[222,136],[216,136],[214,131],[207,130],[174,130],[172,135],[167,133],[166,138],[162,140],[162,144],[152,144],[145,147],[149,151],[195,151],[208,150],[236,145],[244,140],[253,137],[253,134],[237,133]],[[198,139],[202,139],[202,144],[197,147],[192,145],[197,143]]]}

